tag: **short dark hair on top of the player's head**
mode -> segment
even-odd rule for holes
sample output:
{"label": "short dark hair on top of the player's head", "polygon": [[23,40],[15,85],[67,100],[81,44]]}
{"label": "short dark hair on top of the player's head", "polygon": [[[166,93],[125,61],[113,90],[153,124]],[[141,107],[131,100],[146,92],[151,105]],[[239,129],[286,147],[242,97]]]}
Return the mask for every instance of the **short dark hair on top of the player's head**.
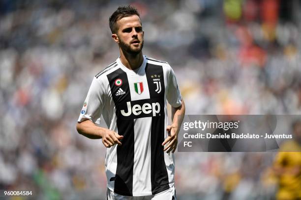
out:
{"label": "short dark hair on top of the player's head", "polygon": [[[119,6],[117,10],[111,15],[109,18],[109,25],[112,33],[117,33],[117,26],[116,22],[121,20],[124,17],[128,17],[131,15],[137,15],[140,18],[140,15],[137,11],[137,8],[134,6],[128,5],[128,6]],[[140,20],[141,22],[141,20]]]}

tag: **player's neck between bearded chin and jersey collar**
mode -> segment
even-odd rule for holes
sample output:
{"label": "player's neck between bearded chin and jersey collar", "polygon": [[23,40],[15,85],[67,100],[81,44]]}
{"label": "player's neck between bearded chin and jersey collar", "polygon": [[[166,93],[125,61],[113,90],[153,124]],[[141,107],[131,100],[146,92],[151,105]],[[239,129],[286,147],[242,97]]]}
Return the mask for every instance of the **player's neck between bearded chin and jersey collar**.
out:
{"label": "player's neck between bearded chin and jersey collar", "polygon": [[143,54],[142,51],[136,55],[132,55],[126,52],[123,52],[120,49],[120,61],[121,63],[130,70],[136,70],[143,63]]}

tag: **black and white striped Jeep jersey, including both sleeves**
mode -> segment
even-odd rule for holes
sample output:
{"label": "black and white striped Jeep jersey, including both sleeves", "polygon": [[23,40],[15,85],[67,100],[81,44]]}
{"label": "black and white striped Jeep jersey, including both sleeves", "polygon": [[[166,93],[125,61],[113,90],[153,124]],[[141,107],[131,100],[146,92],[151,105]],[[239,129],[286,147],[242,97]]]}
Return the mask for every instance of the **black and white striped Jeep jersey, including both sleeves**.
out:
{"label": "black and white striped Jeep jersey, including both sleeves", "polygon": [[107,186],[124,196],[158,194],[174,185],[174,158],[161,145],[168,136],[167,101],[181,105],[174,71],[167,62],[144,57],[132,71],[120,58],[95,75],[78,122],[99,124],[123,135],[107,149]]}

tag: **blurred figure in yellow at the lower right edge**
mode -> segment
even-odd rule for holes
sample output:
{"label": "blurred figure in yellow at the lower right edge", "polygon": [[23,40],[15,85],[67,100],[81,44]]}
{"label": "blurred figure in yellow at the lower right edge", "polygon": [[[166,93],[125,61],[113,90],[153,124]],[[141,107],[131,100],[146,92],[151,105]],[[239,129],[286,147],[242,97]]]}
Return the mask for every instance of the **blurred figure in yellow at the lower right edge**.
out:
{"label": "blurred figure in yellow at the lower right edge", "polygon": [[293,124],[294,140],[285,142],[275,158],[277,200],[301,200],[301,121]]}

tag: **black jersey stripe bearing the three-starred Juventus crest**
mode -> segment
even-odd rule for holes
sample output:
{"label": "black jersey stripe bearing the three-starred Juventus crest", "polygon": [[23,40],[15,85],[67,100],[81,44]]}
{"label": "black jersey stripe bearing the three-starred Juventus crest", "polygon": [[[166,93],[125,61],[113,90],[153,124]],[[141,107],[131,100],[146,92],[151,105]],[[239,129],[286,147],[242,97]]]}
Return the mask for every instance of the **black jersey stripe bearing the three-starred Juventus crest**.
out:
{"label": "black jersey stripe bearing the three-starred Juventus crest", "polygon": [[[151,119],[151,193],[155,195],[169,189],[168,174],[164,161],[164,148],[161,145],[164,141],[164,133],[166,131],[164,114],[165,87],[163,68],[161,65],[147,63],[145,71],[148,79],[150,98],[159,99],[158,102],[161,107],[160,115],[158,117],[152,117]],[[156,75],[156,77],[154,75]],[[159,78],[158,75],[160,75]],[[161,84],[161,91],[158,90],[158,81]]]}

